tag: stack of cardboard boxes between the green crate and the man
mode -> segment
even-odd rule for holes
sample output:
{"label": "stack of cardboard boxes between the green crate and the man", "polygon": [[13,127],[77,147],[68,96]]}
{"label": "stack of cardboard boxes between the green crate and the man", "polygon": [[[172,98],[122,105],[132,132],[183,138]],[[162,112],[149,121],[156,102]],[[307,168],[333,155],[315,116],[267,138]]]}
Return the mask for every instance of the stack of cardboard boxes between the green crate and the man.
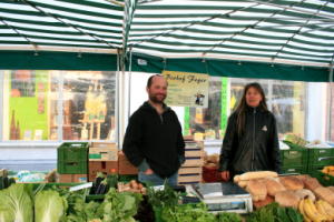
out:
{"label": "stack of cardboard boxes between the green crate and the man", "polygon": [[95,181],[97,173],[118,173],[118,147],[112,142],[92,142],[89,148],[89,181]]}

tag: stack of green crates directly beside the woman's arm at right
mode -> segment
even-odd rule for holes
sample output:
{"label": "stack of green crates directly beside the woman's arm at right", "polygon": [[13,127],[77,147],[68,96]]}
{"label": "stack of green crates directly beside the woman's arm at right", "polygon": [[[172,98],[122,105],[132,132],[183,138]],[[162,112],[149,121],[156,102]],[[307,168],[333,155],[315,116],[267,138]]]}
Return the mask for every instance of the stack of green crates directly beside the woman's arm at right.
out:
{"label": "stack of green crates directly beside the woman's arm at right", "polygon": [[285,142],[291,149],[281,150],[282,173],[307,173],[308,149]]}

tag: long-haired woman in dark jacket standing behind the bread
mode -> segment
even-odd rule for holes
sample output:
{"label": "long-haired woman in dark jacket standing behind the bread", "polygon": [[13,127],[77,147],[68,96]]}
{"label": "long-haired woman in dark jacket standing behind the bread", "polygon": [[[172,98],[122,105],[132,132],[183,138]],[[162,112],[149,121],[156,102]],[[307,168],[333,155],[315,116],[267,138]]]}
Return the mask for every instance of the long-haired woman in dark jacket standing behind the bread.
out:
{"label": "long-haired woman in dark jacket standing behind the bread", "polygon": [[236,111],[228,118],[219,163],[223,181],[248,171],[279,172],[276,120],[257,82],[245,87]]}

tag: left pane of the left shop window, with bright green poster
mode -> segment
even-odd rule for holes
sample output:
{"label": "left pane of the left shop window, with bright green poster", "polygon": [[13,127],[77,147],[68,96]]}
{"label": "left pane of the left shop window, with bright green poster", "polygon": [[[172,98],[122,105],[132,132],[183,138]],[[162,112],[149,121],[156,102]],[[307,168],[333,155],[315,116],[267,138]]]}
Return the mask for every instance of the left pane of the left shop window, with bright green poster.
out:
{"label": "left pane of the left shop window, with bright green poster", "polygon": [[3,91],[3,140],[49,140],[48,71],[7,71]]}

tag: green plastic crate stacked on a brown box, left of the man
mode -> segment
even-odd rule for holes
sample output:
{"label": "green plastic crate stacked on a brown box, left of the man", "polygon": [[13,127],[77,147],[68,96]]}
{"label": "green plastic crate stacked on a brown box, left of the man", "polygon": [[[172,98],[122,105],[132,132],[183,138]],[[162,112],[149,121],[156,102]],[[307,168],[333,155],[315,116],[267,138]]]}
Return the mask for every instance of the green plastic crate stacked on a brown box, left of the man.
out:
{"label": "green plastic crate stacked on a brown box, left of the man", "polygon": [[88,142],[65,142],[57,149],[59,182],[87,182]]}

